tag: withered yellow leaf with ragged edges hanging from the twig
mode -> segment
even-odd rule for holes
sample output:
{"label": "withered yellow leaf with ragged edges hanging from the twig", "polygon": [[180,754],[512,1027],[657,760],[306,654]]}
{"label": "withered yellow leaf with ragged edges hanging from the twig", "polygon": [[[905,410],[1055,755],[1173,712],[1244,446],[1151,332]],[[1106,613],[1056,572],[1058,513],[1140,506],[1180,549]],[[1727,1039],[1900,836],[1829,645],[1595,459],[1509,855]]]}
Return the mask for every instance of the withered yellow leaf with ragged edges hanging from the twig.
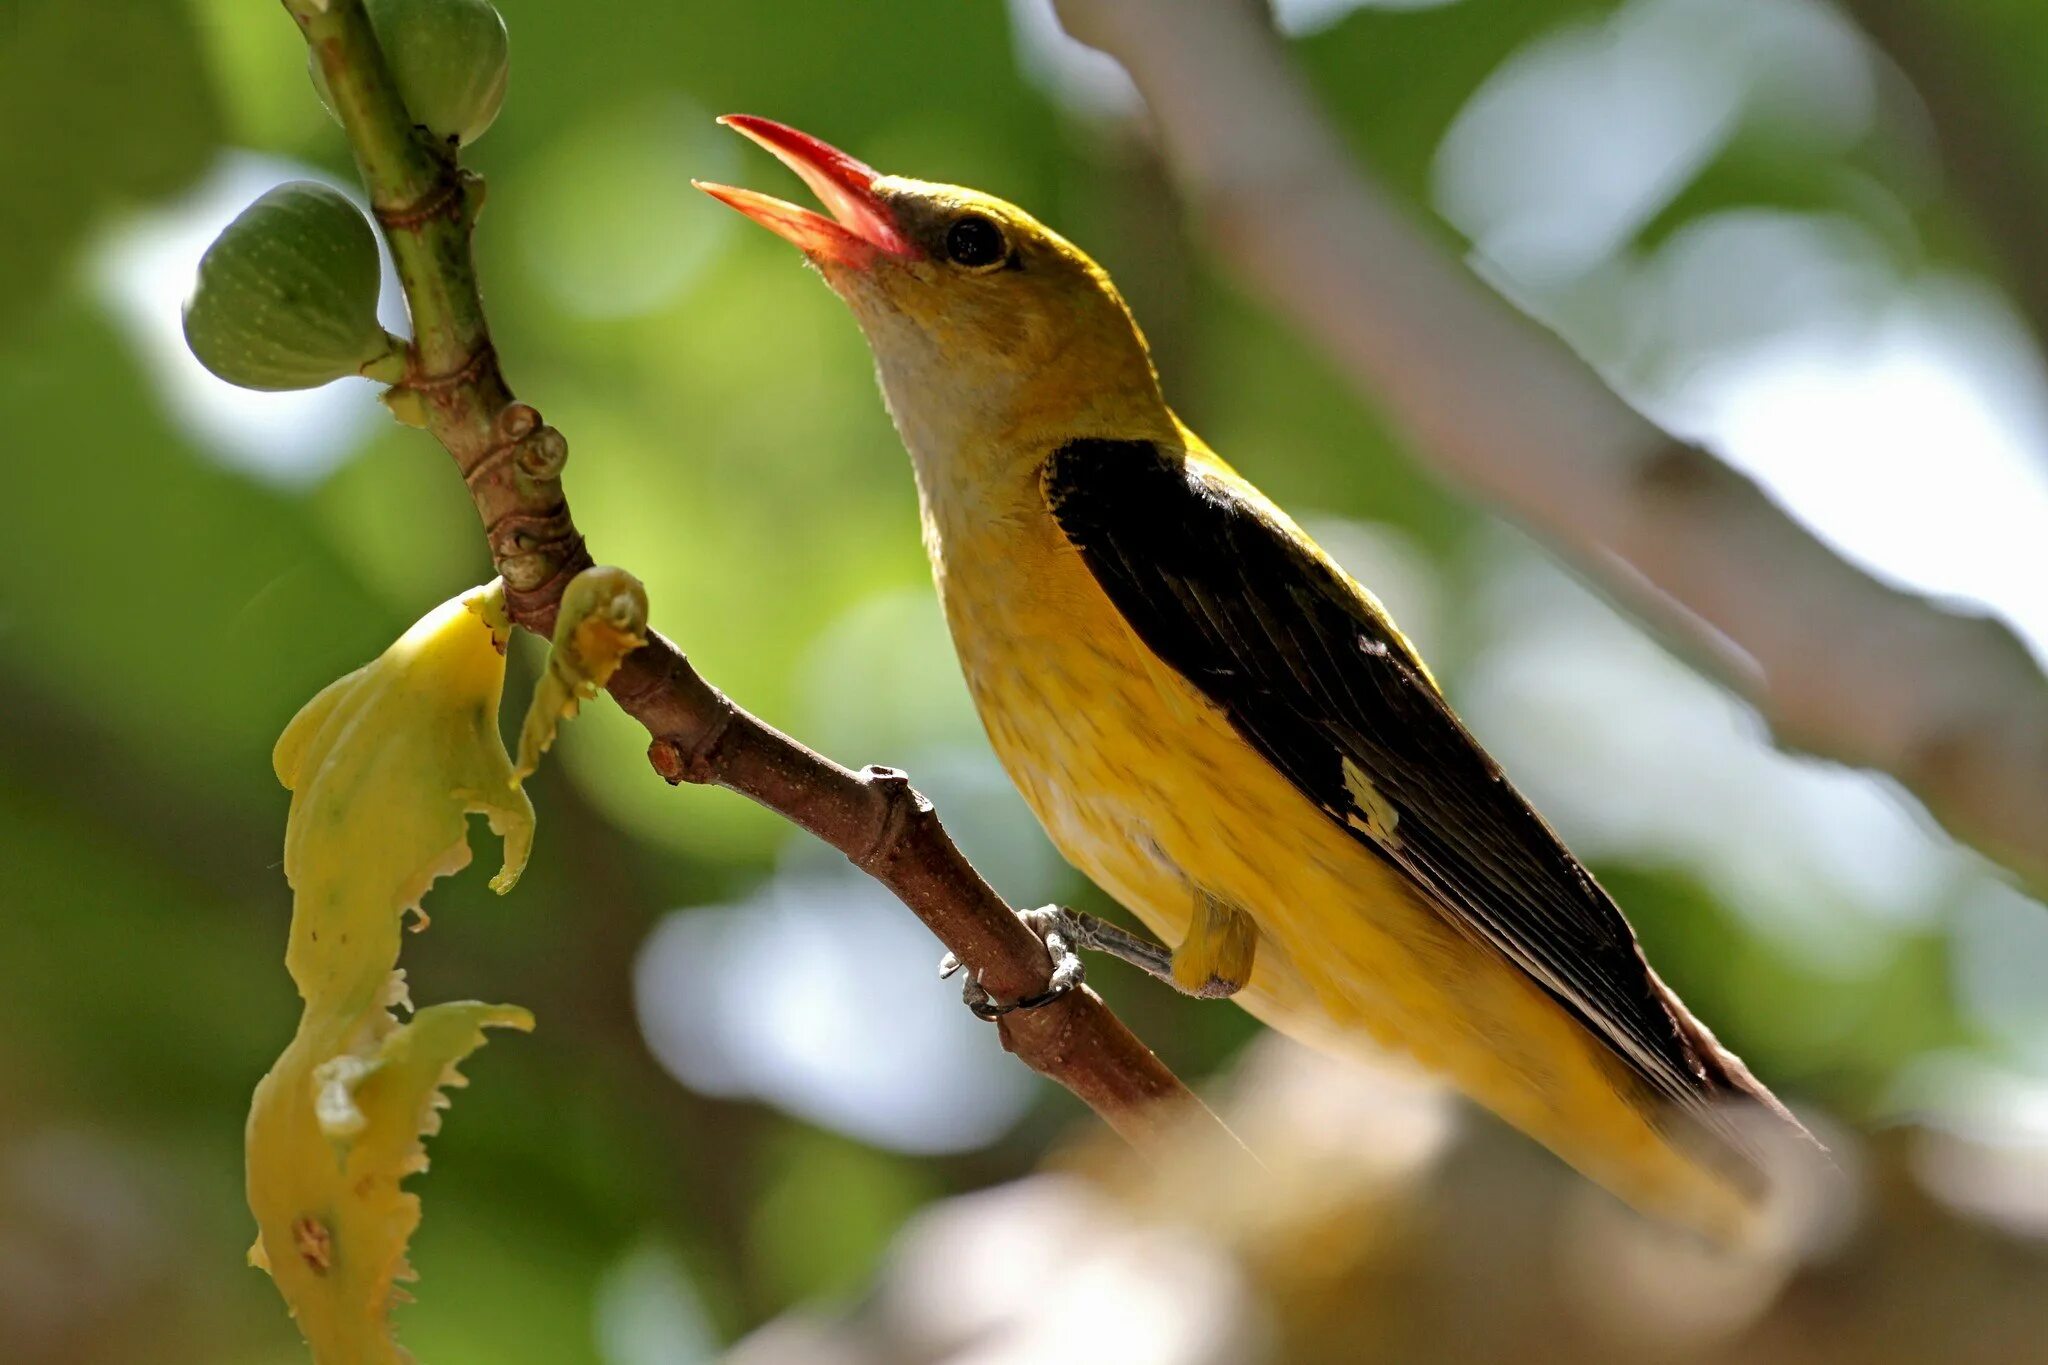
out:
{"label": "withered yellow leaf with ragged edges hanging from the twig", "polygon": [[[410,1009],[397,970],[408,911],[469,864],[467,817],[504,839],[500,892],[532,845],[532,806],[498,737],[504,692],[498,583],[428,612],[379,659],[330,684],[285,726],[272,761],[291,788],[285,964],[299,1031],[256,1087],[248,1124],[254,1265],[270,1271],[319,1365],[395,1365],[397,1281],[442,1087],[485,1027],[532,1027],[514,1005]],[[422,917],[424,923],[424,917]]]}

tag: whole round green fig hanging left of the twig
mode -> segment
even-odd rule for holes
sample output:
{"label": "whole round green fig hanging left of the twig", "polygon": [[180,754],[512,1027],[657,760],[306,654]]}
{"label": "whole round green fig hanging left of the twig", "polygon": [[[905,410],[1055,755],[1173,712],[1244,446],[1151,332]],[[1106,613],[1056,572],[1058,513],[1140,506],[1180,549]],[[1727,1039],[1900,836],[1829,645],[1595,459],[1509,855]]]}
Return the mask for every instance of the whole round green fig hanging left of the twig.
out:
{"label": "whole round green fig hanging left of the twig", "polygon": [[184,344],[244,389],[313,389],[358,375],[393,342],[377,325],[377,237],[346,196],[276,186],[199,258]]}

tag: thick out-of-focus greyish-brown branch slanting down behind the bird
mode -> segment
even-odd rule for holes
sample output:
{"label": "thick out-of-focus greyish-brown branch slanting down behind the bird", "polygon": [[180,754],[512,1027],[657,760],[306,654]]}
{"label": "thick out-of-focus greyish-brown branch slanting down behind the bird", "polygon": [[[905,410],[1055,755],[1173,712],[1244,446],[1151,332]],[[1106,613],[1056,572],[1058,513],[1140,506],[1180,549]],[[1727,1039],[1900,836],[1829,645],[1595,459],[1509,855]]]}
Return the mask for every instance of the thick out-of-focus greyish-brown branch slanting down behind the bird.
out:
{"label": "thick out-of-focus greyish-brown branch slanting down behind the bird", "polygon": [[1257,0],[1057,0],[1145,94],[1214,250],[1415,448],[1743,694],[2048,888],[2048,679],[2003,624],[1847,565],[1444,256],[1346,151]]}

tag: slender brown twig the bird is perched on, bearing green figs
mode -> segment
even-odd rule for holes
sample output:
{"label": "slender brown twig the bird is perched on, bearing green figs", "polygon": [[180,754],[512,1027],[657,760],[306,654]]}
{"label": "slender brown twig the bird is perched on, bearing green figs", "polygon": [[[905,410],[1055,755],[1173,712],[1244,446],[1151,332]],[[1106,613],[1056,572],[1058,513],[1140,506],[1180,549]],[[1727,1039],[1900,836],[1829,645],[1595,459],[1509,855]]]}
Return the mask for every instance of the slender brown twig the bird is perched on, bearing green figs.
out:
{"label": "slender brown twig the bird is perched on, bearing green figs", "polygon": [[[412,127],[362,0],[285,0],[317,53],[371,207],[397,262],[414,340],[393,409],[455,456],[506,581],[512,620],[551,634],[561,589],[592,559],[561,491],[567,444],[512,397],[492,348],[469,239],[483,182]],[[817,835],[907,905],[997,999],[1047,988],[1051,962],[967,862],[932,804],[887,767],[840,767],[748,714],[651,636],[610,694],[647,726],[668,782],[731,788]],[[1094,990],[1006,1015],[1004,1046],[1137,1144],[1214,1115]]]}

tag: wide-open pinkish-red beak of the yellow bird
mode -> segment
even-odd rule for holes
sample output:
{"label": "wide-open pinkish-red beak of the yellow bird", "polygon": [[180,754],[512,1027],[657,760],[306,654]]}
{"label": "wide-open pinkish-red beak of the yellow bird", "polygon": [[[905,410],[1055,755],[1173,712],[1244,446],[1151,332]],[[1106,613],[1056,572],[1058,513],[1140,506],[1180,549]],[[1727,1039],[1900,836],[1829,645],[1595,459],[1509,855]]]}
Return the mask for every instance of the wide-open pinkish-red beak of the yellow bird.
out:
{"label": "wide-open pinkish-red beak of the yellow bird", "polygon": [[905,260],[924,256],[897,231],[889,207],[874,194],[881,176],[872,168],[786,123],[754,115],[725,115],[719,123],[774,151],[784,166],[803,176],[831,217],[729,184],[692,180],[696,188],[739,209],[768,231],[788,237],[805,256],[817,260],[864,268],[874,264],[877,256]]}

